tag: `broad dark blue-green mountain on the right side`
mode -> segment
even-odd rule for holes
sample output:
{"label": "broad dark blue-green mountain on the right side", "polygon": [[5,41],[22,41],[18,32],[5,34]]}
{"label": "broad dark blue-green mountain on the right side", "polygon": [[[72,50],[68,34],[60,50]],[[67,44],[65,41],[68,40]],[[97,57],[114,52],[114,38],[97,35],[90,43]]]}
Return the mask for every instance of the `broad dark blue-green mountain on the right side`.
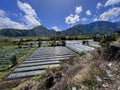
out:
{"label": "broad dark blue-green mountain on the right side", "polygon": [[120,23],[111,23],[107,21],[97,21],[85,25],[75,25],[62,32],[63,35],[83,35],[83,34],[107,34],[120,29]]}

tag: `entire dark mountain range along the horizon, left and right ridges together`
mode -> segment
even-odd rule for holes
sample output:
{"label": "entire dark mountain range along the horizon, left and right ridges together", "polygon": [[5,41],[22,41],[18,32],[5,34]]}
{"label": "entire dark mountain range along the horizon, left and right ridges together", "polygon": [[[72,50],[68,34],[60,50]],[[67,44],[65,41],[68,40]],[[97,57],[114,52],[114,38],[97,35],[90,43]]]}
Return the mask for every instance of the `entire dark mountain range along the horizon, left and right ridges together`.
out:
{"label": "entire dark mountain range along the horizon, left and right ridges together", "polygon": [[[61,31],[63,36],[78,36],[78,35],[91,35],[91,34],[108,34],[120,30],[120,22],[107,22],[97,21],[90,24],[78,24],[67,30]],[[3,37],[42,37],[54,36],[55,30],[48,30],[45,26],[40,25],[30,30],[19,29],[2,29],[0,36]]]}

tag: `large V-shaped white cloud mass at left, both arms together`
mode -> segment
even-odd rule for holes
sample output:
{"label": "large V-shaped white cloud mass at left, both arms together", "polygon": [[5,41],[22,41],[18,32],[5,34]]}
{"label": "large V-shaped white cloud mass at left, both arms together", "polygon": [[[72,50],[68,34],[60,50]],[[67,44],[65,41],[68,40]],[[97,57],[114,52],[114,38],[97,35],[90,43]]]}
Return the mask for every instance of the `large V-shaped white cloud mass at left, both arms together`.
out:
{"label": "large V-shaped white cloud mass at left, both arms together", "polygon": [[[34,9],[28,3],[22,3],[18,0],[18,7],[25,15],[15,15],[21,22],[11,20],[4,10],[0,10],[0,29],[13,28],[13,29],[28,29],[41,25],[39,18]],[[15,13],[14,13],[15,14]],[[21,18],[20,18],[21,17]]]}

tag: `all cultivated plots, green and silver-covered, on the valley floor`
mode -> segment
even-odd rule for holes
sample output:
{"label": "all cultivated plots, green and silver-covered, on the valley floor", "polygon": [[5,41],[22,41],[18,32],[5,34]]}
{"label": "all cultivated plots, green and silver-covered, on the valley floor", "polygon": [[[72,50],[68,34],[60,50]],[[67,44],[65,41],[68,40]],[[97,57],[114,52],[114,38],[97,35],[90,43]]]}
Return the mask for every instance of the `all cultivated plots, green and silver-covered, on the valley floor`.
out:
{"label": "all cultivated plots, green and silver-covered, on the valley floor", "polygon": [[[73,40],[65,41],[66,47],[61,47],[62,45],[64,45],[63,41],[61,42],[58,40],[57,41],[49,40],[41,41],[39,47],[38,45],[39,41],[36,40],[33,39],[28,40],[27,38],[23,39],[12,38],[3,40],[1,39],[2,42],[0,47],[1,79],[3,78],[5,79],[5,77],[9,75],[11,71],[13,72],[11,76],[13,78],[17,78],[17,73],[20,74],[21,72],[22,73],[20,74],[20,76],[18,76],[18,78],[38,75],[48,66],[59,66],[61,60],[69,59],[69,57],[75,55],[75,52],[79,53],[81,51],[91,51],[94,50],[94,48],[97,45],[99,45],[99,43],[94,44],[93,41],[90,41],[90,45],[94,46],[93,48],[93,46],[90,47],[88,45],[82,45],[83,42],[82,40],[76,41]],[[34,52],[34,50],[36,51]],[[15,61],[13,61],[14,59]],[[26,71],[28,74],[26,73]],[[9,77],[8,79],[10,79]]]}

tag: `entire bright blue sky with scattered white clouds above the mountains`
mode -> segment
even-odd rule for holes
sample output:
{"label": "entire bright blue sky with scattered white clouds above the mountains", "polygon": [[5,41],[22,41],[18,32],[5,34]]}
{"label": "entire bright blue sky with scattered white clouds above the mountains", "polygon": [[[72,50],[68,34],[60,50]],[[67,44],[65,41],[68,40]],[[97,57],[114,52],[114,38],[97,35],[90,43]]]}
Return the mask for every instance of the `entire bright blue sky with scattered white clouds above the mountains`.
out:
{"label": "entire bright blue sky with scattered white clouds above the mountains", "polygon": [[120,0],[0,0],[0,29],[61,31],[95,21],[119,22]]}

